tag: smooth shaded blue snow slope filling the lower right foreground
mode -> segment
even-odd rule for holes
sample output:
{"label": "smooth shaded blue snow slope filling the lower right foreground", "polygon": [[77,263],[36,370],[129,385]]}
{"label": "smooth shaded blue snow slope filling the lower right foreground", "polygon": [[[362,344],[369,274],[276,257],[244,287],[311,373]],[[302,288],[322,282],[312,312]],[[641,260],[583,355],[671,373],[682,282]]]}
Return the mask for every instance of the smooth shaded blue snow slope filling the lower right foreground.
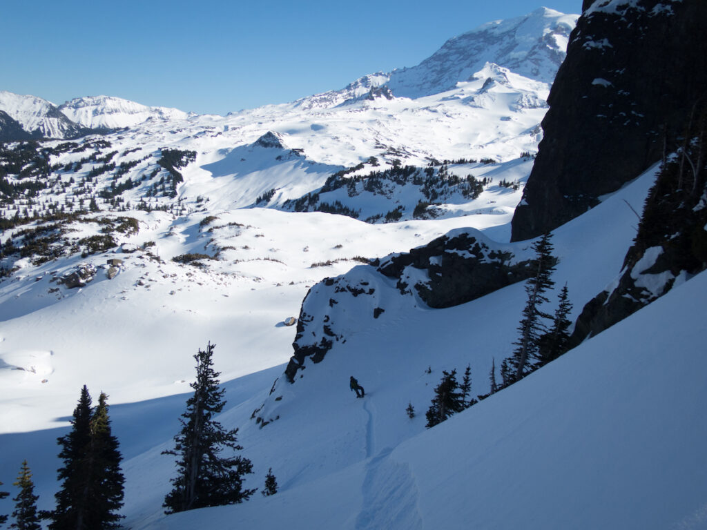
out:
{"label": "smooth shaded blue snow slope filling the lower right foreground", "polygon": [[[702,273],[521,384],[339,473],[149,527],[704,528],[706,289]],[[670,391],[655,399],[657,389]],[[373,401],[356,404],[364,418],[378,416]]]}

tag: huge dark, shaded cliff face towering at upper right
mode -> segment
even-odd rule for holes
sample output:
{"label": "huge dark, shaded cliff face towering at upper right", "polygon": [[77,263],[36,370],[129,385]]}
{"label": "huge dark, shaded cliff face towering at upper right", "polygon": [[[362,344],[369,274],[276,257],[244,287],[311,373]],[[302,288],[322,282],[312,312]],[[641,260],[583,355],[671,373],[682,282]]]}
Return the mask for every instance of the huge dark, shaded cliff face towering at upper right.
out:
{"label": "huge dark, shaded cliff face towering at upper right", "polygon": [[550,92],[512,240],[595,206],[678,142],[707,87],[707,2],[585,0]]}

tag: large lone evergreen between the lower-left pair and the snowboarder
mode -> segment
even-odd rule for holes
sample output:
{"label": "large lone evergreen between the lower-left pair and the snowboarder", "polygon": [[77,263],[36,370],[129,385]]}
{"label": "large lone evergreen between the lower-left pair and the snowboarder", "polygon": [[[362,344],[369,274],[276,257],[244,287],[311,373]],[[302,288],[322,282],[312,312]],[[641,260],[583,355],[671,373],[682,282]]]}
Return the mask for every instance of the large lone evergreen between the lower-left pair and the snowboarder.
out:
{"label": "large lone evergreen between the lower-left pair and the snowboarder", "polygon": [[236,443],[238,429],[225,430],[214,416],[223,410],[223,389],[218,389],[212,355],[215,344],[194,355],[197,379],[191,384],[194,395],[187,400],[182,414],[182,430],[175,436],[175,448],[163,452],[177,457],[177,477],[170,482],[173,490],[165,496],[165,513],[183,512],[207,506],[233,504],[247,500],[255,490],[243,489],[243,475],[252,473],[249,459],[221,457],[223,449],[240,451]]}

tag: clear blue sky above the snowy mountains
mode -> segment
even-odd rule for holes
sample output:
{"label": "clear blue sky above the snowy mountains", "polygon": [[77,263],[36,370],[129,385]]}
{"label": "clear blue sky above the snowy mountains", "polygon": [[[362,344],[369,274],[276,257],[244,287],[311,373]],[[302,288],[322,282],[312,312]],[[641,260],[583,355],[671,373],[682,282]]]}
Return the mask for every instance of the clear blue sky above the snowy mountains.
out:
{"label": "clear blue sky above the snowy mountains", "polygon": [[414,66],[445,40],[581,0],[0,2],[0,90],[226,114]]}

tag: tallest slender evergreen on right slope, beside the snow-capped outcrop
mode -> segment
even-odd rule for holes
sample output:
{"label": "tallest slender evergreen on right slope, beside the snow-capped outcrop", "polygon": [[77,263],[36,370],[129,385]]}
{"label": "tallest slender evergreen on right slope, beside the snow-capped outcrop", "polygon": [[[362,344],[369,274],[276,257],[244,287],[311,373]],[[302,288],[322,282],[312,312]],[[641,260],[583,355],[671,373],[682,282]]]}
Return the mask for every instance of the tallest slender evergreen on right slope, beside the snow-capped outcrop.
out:
{"label": "tallest slender evergreen on right slope, beside the snow-capped outcrop", "polygon": [[535,259],[532,261],[534,276],[525,283],[527,301],[522,310],[522,319],[518,324],[518,340],[513,343],[516,348],[513,356],[503,360],[501,375],[504,386],[518,381],[532,372],[537,365],[533,363],[538,359],[539,337],[545,331],[542,319],[549,319],[550,315],[540,310],[540,305],[547,302],[544,293],[554,285],[551,276],[555,270],[556,258],[552,255],[551,235],[543,235],[533,243]]}

